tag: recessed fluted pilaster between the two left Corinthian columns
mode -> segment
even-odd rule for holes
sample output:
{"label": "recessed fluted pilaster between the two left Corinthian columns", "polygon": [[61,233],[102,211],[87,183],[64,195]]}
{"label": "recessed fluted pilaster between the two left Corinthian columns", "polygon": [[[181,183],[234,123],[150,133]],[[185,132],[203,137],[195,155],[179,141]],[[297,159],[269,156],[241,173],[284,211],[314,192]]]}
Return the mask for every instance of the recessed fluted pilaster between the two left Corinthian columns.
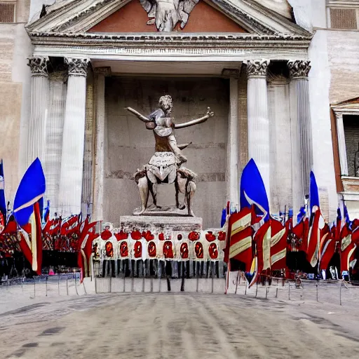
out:
{"label": "recessed fluted pilaster between the two left Corinthian columns", "polygon": [[57,71],[49,75],[50,97],[46,126],[46,152],[43,170],[46,177],[46,199],[50,201],[51,215],[58,212],[60,187],[62,133],[64,130],[66,104],[66,72]]}

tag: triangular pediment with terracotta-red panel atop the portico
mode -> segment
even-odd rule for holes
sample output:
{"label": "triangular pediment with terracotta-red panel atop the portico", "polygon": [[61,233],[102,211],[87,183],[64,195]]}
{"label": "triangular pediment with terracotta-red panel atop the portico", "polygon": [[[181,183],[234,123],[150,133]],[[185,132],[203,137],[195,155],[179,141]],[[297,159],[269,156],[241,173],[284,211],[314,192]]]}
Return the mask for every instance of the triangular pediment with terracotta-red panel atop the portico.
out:
{"label": "triangular pediment with terracotta-red panel atop the portico", "polygon": [[[178,12],[170,20],[166,12],[168,8],[172,15]],[[172,26],[173,22],[176,23]],[[229,0],[62,0],[48,7],[39,20],[29,23],[27,30],[30,34],[67,36],[86,32],[123,34],[161,31],[168,34],[205,32],[311,36],[302,27],[255,0],[236,0],[236,5]]]}

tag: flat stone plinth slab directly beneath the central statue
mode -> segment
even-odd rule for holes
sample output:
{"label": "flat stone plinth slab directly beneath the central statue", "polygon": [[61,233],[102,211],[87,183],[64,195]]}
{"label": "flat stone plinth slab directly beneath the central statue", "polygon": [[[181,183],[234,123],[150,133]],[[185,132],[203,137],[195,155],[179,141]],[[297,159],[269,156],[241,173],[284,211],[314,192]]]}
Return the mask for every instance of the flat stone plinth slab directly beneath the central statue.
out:
{"label": "flat stone plinth slab directly beneath the central statue", "polygon": [[179,216],[160,216],[160,215],[140,215],[140,216],[121,216],[120,227],[137,229],[156,229],[157,232],[170,231],[201,231],[201,217],[179,217]]}

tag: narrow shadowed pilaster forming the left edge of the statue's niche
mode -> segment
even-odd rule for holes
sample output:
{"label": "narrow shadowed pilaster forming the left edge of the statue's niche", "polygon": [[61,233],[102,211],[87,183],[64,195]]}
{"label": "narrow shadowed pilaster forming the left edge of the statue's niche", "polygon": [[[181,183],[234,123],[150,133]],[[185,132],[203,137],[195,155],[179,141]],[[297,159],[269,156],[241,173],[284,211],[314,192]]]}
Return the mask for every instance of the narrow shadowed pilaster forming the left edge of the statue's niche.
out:
{"label": "narrow shadowed pilaster forming the left edge of the statue's niche", "polygon": [[111,75],[110,67],[95,69],[95,182],[93,195],[93,219],[103,219],[104,202],[104,83],[105,76]]}

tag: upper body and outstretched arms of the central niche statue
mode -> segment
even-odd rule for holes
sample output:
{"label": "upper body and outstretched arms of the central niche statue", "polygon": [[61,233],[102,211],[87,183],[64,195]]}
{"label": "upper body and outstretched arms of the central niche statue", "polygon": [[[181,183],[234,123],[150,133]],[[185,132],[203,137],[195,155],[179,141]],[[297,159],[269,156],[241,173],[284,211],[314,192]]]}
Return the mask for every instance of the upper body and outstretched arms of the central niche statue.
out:
{"label": "upper body and outstretched arms of the central niche statue", "polygon": [[182,154],[182,149],[185,149],[189,144],[177,144],[173,129],[186,128],[197,125],[198,123],[203,123],[207,121],[208,118],[214,116],[214,114],[208,107],[208,111],[205,116],[186,123],[175,124],[173,118],[171,117],[172,108],[172,97],[170,97],[170,95],[165,95],[160,98],[158,102],[158,109],[150,114],[149,117],[143,116],[131,107],[127,107],[127,110],[146,123],[146,127],[149,130],[154,130],[156,152],[173,152],[178,163],[182,164],[187,162],[187,158]]}

